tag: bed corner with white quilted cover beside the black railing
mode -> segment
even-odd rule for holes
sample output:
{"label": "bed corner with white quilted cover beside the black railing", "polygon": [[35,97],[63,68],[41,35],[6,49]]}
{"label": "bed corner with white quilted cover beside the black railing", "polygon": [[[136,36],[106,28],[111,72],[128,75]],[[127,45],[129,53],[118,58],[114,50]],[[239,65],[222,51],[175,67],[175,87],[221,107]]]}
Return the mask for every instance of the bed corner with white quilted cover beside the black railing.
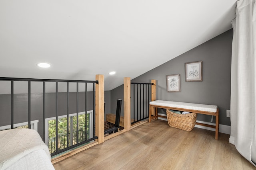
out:
{"label": "bed corner with white quilted cover beside the black railing", "polygon": [[54,170],[48,147],[37,131],[0,131],[0,170]]}

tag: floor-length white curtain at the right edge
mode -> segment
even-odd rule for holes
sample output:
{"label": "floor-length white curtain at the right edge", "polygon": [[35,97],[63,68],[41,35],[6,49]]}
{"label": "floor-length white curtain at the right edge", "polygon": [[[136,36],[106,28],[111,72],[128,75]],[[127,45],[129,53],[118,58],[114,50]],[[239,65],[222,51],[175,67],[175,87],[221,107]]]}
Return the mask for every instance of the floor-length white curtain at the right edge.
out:
{"label": "floor-length white curtain at the right edge", "polygon": [[[239,0],[231,63],[230,141],[252,164],[256,162],[256,5]],[[254,164],[256,166],[256,164]]]}

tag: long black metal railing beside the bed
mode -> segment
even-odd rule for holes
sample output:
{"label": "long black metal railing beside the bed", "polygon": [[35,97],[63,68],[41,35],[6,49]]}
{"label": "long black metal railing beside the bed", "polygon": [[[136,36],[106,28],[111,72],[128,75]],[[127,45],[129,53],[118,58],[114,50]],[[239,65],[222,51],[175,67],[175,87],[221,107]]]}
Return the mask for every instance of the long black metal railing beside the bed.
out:
{"label": "long black metal railing beside the bed", "polygon": [[[96,75],[97,76],[97,75]],[[11,93],[10,93],[10,96],[11,96],[11,100],[10,100],[10,105],[11,105],[11,108],[10,108],[10,118],[11,118],[11,129],[14,128],[14,82],[15,81],[24,81],[24,82],[28,82],[28,128],[31,128],[30,126],[30,123],[31,123],[31,82],[42,82],[43,83],[43,86],[42,86],[42,89],[43,89],[43,100],[42,100],[42,117],[43,117],[43,141],[45,142],[45,139],[46,139],[46,134],[45,134],[45,119],[46,119],[46,90],[45,90],[45,86],[46,86],[46,82],[54,82],[56,83],[56,89],[55,89],[55,115],[56,115],[56,124],[55,124],[55,131],[56,131],[56,137],[58,136],[58,112],[59,112],[59,108],[60,107],[58,105],[58,82],[65,82],[67,84],[67,106],[64,106],[64,107],[67,107],[67,117],[69,115],[69,89],[68,89],[68,84],[69,83],[73,83],[75,82],[76,83],[76,112],[77,112],[77,117],[76,117],[76,122],[78,122],[78,101],[79,101],[79,98],[78,98],[78,83],[82,83],[82,84],[85,84],[86,86],[86,89],[85,89],[85,100],[86,102],[84,102],[85,105],[87,105],[87,83],[89,84],[93,84],[93,95],[92,95],[92,105],[93,105],[93,113],[94,113],[94,116],[93,116],[93,124],[95,125],[95,84],[99,84],[100,81],[98,81],[99,79],[96,79],[96,80],[62,80],[62,79],[41,79],[41,78],[14,78],[14,77],[0,77],[0,81],[10,81],[11,84],[10,84],[10,87],[11,87]],[[102,80],[104,81],[104,80]],[[104,84],[104,83],[102,83]],[[87,107],[85,106],[85,109],[87,109]],[[68,121],[68,119],[67,119]],[[87,120],[86,120],[87,122]],[[68,124],[69,122],[67,123],[67,129],[68,129]],[[76,129],[78,131],[78,123],[76,125]],[[68,133],[67,133],[67,139],[69,139],[68,137]],[[87,139],[87,137],[85,138],[84,141],[80,142],[78,141],[78,133],[76,133],[76,145],[72,145],[72,146],[68,146],[67,148],[65,149],[59,149],[57,145],[55,145],[56,149],[55,149],[55,152],[54,153],[51,153],[52,156],[56,155],[56,154],[59,154],[60,152],[63,152],[65,150],[68,150],[68,149],[71,149],[73,147],[76,147],[78,145],[82,145],[84,143],[88,143],[92,140],[95,140],[95,139],[98,139],[98,136],[95,135],[95,130],[93,129],[93,137],[91,137],[90,139]],[[56,144],[58,143],[58,138],[56,138]],[[69,143],[67,143],[67,145],[69,145]]]}

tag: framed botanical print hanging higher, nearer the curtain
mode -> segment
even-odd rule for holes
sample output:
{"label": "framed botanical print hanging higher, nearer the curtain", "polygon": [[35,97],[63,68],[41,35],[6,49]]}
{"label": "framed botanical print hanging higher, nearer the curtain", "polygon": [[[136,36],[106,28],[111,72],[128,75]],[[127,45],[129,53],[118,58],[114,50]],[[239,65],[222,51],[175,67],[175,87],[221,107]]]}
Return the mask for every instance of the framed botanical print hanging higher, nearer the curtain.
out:
{"label": "framed botanical print hanging higher, nearer the curtain", "polygon": [[203,67],[202,61],[192,63],[185,63],[185,81],[186,82],[202,82],[203,81]]}

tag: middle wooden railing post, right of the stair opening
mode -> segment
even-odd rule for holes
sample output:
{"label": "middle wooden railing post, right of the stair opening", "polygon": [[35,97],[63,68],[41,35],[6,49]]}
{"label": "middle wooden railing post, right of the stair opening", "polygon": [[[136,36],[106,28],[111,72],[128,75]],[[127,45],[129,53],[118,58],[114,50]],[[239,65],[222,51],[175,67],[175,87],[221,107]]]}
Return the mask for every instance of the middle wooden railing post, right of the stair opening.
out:
{"label": "middle wooden railing post, right of the stair opening", "polygon": [[124,78],[124,129],[131,130],[131,78]]}

